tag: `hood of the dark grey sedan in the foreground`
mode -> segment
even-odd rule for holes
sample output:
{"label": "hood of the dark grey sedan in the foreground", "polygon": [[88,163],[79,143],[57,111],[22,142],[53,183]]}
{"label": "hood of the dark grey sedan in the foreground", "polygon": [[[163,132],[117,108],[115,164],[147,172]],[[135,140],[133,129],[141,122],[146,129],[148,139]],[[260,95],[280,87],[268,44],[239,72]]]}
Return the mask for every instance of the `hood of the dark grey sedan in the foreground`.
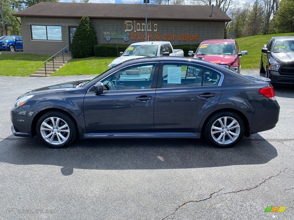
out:
{"label": "hood of the dark grey sedan in the foreground", "polygon": [[30,92],[27,92],[27,93],[21,95],[19,98],[25,97],[25,96],[31,95],[31,94],[40,94],[40,93],[44,93],[44,92],[57,92],[57,91],[65,91],[65,90],[69,90],[69,89],[76,89],[77,84],[79,84],[81,82],[87,82],[87,81],[89,81],[89,80],[65,82],[65,83],[56,84],[56,85],[52,85],[52,86],[48,86],[48,87],[42,87],[42,88],[34,89]]}

